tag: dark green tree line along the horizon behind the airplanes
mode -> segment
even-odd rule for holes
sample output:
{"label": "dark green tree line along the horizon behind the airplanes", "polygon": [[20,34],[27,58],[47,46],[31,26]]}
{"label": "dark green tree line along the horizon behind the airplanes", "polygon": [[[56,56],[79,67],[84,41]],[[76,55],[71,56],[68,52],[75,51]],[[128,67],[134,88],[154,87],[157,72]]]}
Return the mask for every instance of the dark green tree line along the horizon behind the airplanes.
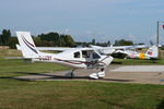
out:
{"label": "dark green tree line along the horizon behind the airplanes", "polygon": [[[91,43],[85,41],[74,41],[71,35],[58,34],[57,32],[50,32],[47,34],[40,34],[37,36],[32,36],[35,45],[37,47],[77,47],[79,45],[89,47],[90,45],[97,46],[109,46],[110,40],[106,43],[96,43],[92,39]],[[15,44],[19,44],[16,36],[12,36],[10,29],[3,29],[0,34],[0,46],[9,46],[10,48],[15,48]],[[115,40],[116,46],[129,46],[133,45],[131,40]]]}

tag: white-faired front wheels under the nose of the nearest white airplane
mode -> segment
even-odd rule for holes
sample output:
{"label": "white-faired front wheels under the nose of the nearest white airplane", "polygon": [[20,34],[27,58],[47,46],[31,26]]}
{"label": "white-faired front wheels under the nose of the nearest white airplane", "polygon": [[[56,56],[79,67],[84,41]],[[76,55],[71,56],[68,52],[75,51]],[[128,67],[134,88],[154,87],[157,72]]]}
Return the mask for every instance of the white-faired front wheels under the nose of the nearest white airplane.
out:
{"label": "white-faired front wheels under the nose of the nearest white airplane", "polygon": [[105,76],[105,70],[104,68],[101,69],[101,72],[98,73],[92,73],[89,75],[91,78],[97,80],[97,78],[103,78]]}

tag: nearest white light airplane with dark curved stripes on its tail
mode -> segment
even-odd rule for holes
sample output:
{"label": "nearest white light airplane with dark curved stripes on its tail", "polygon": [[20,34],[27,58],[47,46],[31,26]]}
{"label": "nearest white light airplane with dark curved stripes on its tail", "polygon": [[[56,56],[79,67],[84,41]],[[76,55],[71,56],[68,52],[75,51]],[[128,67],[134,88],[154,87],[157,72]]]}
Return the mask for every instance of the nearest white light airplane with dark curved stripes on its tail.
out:
{"label": "nearest white light airplane with dark curved stripes on its tail", "polygon": [[24,59],[32,59],[39,62],[54,62],[72,68],[69,73],[73,77],[75,69],[98,69],[99,72],[92,73],[91,78],[99,78],[105,76],[105,68],[110,64],[113,57],[99,55],[93,48],[72,48],[60,53],[46,53],[39,51],[28,32],[16,32],[20,43],[20,50]]}

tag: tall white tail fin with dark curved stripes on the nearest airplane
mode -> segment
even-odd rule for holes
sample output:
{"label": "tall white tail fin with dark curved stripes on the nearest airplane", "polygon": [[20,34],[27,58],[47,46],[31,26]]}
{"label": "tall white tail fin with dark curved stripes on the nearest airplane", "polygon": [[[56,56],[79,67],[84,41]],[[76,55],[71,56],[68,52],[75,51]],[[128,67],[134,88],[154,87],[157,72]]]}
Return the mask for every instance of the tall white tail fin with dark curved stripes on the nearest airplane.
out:
{"label": "tall white tail fin with dark curved stripes on the nearest airplane", "polygon": [[16,32],[19,38],[21,51],[24,58],[38,58],[39,51],[32,39],[31,33],[28,32]]}

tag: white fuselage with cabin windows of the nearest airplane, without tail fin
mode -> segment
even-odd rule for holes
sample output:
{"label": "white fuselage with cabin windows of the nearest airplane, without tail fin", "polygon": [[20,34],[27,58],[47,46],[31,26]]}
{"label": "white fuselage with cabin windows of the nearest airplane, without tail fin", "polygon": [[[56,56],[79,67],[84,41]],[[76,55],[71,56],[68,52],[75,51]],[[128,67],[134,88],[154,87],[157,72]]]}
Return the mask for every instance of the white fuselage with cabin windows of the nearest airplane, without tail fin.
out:
{"label": "white fuselage with cabin windows of the nearest airplane, without tail fin", "polygon": [[85,48],[78,48],[57,55],[42,52],[40,57],[33,59],[33,61],[54,62],[71,66],[73,69],[94,69],[109,65],[109,63],[113,61],[113,57],[102,56]]}

